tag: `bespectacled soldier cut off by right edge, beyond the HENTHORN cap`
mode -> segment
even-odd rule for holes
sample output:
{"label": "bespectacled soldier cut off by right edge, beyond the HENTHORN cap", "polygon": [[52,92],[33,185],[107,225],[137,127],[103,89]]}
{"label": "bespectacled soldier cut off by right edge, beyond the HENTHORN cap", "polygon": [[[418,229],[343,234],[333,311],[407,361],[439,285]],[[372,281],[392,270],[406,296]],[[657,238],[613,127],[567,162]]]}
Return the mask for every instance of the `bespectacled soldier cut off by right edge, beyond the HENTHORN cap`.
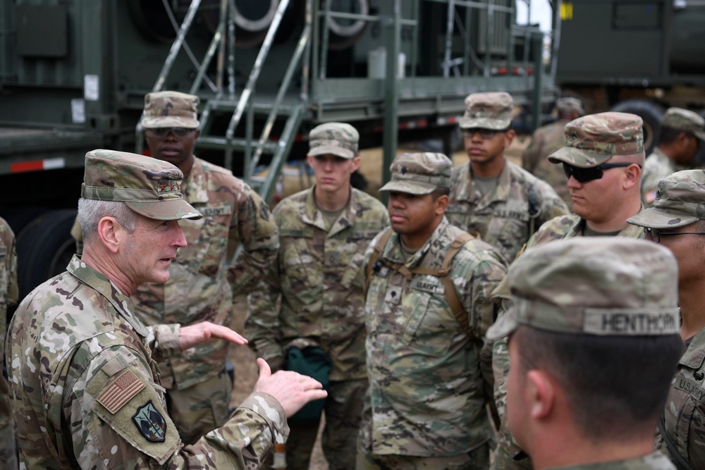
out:
{"label": "bespectacled soldier cut off by right edge, beyond the HENTHORN cap", "polygon": [[654,206],[628,220],[678,261],[680,338],[685,354],[671,383],[656,445],[679,469],[705,468],[705,171],[673,173],[658,183]]}

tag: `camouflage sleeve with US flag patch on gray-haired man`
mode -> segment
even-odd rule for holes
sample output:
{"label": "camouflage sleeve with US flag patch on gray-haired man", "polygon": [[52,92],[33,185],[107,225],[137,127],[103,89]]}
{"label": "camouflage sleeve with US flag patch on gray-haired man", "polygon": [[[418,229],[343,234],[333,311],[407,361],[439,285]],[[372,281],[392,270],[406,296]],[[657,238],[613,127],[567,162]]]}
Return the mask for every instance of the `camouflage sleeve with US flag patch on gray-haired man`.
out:
{"label": "camouflage sleeve with US flag patch on gray-haired man", "polygon": [[225,425],[185,446],[151,377],[145,359],[124,345],[91,359],[63,404],[82,469],[252,469],[264,464],[273,442],[286,440],[281,405],[253,394]]}

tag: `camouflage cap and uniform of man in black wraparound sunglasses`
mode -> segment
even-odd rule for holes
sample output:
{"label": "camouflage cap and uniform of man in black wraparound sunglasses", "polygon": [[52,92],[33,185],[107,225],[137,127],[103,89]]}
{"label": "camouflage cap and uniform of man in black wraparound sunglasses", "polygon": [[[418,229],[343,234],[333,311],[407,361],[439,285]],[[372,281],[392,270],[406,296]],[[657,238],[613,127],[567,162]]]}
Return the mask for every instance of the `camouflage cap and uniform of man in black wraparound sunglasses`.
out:
{"label": "camouflage cap and uniform of man in black wraparound sunglasses", "polygon": [[[551,156],[549,156],[548,160],[551,161],[551,163],[557,163],[558,161],[567,159],[571,162],[571,164],[575,163],[578,166],[594,166],[603,163],[603,161],[607,161],[618,151],[622,151],[617,149],[617,147],[620,146],[625,148],[624,153],[637,153],[638,151],[643,151],[644,147],[641,123],[640,121],[635,121],[632,125],[633,118],[637,118],[637,116],[627,114],[624,114],[624,116],[615,116],[615,118],[618,119],[615,120],[615,123],[611,123],[613,128],[611,133],[613,135],[610,135],[610,132],[602,134],[601,132],[592,131],[592,126],[601,125],[601,122],[605,118],[605,114],[612,115],[615,113],[601,113],[584,116],[583,118],[578,118],[571,121],[565,129],[566,135],[570,135],[571,138],[568,140],[568,146],[563,147],[562,149],[568,150],[566,152],[568,153],[568,156],[561,156],[561,160],[558,160],[555,158],[556,152],[554,152]],[[616,114],[620,115],[623,113]],[[610,118],[610,116],[606,117]],[[624,117],[624,120],[621,119],[622,117]],[[580,129],[586,122],[588,123],[587,128],[585,129],[585,132],[582,132]],[[621,128],[627,128],[630,132],[624,132],[623,135]],[[573,135],[575,135],[575,138],[572,138]],[[610,142],[611,140],[616,141]],[[576,214],[567,214],[552,218],[550,221],[541,225],[541,228],[539,228],[537,233],[532,235],[518,256],[521,256],[521,254],[528,249],[544,245],[548,242],[570,239],[573,237],[582,237],[584,236],[586,225],[587,221]],[[635,227],[634,225],[627,225],[620,231],[620,233],[618,233],[617,236],[641,239],[644,238],[644,230],[640,227]],[[508,307],[510,291],[507,279],[502,281],[493,293],[493,297],[498,302],[504,304],[504,309]],[[513,457],[520,452],[520,448],[515,445],[511,433],[506,426],[506,378],[509,373],[509,353],[506,338],[499,338],[492,344],[492,368],[494,371],[495,382],[494,399],[497,410],[502,418],[502,424],[498,432],[498,447],[492,468],[495,470],[517,468],[531,469],[532,465],[529,459],[513,460]]]}

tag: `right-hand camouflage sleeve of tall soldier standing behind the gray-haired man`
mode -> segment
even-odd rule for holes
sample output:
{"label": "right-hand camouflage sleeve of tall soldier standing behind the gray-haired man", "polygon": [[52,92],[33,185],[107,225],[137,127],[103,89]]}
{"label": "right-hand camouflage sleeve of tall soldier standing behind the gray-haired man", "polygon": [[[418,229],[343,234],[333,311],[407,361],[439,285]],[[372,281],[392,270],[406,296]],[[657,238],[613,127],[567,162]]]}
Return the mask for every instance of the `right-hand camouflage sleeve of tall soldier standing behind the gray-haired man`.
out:
{"label": "right-hand camouflage sleeve of tall soldier standing behind the gray-haired man", "polygon": [[[228,271],[233,295],[250,292],[266,269],[274,262],[279,248],[279,235],[269,207],[248,185],[235,207],[237,221],[230,230],[229,246],[242,245],[242,250]],[[228,253],[233,256],[233,253]]]}

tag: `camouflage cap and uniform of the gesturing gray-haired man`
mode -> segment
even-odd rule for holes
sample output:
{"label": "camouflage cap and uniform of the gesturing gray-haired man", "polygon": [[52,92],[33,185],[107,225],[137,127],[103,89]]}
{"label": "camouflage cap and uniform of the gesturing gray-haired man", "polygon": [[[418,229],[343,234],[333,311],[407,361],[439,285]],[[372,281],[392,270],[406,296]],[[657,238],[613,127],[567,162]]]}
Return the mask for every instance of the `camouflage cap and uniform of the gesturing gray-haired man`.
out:
{"label": "camouflage cap and uniform of the gesturing gray-haired man", "polygon": [[[94,150],[82,197],[123,201],[158,220],[200,218],[170,163]],[[262,464],[286,440],[281,405],[252,394],[225,426],[184,447],[166,412],[157,359],[179,354],[180,326],[146,327],[130,300],[74,256],[18,307],[7,341],[23,468],[200,468]]]}

